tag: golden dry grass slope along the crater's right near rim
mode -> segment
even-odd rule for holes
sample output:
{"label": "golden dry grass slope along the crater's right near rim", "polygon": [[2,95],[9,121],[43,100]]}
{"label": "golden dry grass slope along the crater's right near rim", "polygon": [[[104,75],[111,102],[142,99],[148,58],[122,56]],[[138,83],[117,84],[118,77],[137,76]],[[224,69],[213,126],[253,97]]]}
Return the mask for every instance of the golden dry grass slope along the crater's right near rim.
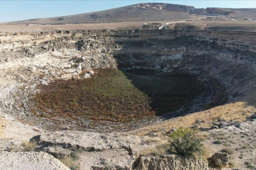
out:
{"label": "golden dry grass slope along the crater's right near rim", "polygon": [[172,118],[163,122],[161,124],[152,125],[150,127],[140,128],[139,130],[134,130],[132,133],[136,135],[146,135],[152,130],[161,132],[162,129],[166,131],[171,130],[171,128],[178,127],[193,127],[196,120],[205,120],[205,122],[200,123],[198,127],[210,127],[212,121],[216,121],[217,118],[224,118],[228,121],[240,121],[245,122],[247,118],[256,111],[254,106],[247,106],[246,102],[236,102],[229,103],[222,106],[217,106],[205,111],[199,111],[197,113],[191,113],[189,115],[180,116],[177,118]]}

